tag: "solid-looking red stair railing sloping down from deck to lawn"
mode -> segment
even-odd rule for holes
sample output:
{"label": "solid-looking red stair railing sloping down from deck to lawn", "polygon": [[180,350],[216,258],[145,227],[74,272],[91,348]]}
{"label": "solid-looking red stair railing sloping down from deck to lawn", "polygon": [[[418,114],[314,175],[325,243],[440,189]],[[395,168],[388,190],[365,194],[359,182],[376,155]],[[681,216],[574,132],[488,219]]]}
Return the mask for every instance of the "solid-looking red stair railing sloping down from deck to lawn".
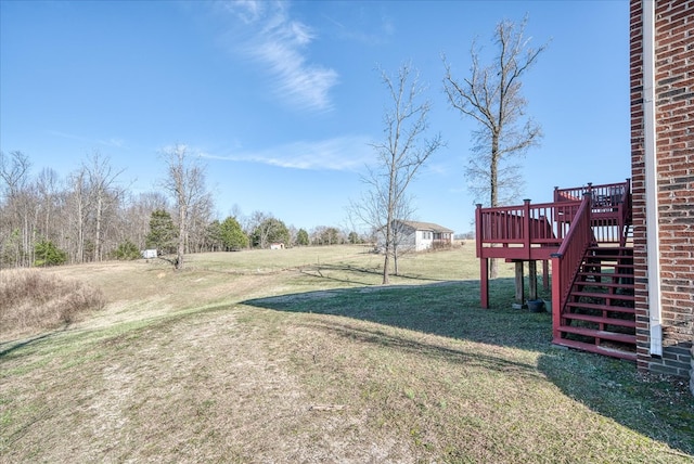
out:
{"label": "solid-looking red stair railing sloping down from deck to lawn", "polygon": [[553,336],[560,338],[558,326],[568,300],[574,280],[580,270],[586,250],[593,242],[591,229],[592,195],[583,193],[583,199],[574,217],[562,246],[552,254],[552,320]]}

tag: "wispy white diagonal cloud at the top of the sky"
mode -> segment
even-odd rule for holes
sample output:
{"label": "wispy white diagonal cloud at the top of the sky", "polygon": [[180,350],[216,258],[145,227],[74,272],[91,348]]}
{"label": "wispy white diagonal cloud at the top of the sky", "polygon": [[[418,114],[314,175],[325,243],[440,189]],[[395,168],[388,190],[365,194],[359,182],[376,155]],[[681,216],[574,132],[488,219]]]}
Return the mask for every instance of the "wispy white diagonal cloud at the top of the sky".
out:
{"label": "wispy white diagonal cloud at the top of the sky", "polygon": [[300,109],[332,108],[330,91],[338,81],[337,72],[309,62],[307,49],[316,36],[292,18],[287,2],[241,0],[223,5],[249,33],[233,48],[266,67],[277,98]]}

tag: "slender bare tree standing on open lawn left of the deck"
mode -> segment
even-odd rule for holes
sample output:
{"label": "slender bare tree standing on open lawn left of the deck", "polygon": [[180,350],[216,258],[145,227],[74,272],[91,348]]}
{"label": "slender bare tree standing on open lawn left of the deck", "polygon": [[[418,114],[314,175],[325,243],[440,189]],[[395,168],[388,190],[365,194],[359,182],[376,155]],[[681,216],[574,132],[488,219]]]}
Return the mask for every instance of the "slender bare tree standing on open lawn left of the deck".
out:
{"label": "slender bare tree standing on open lawn left of the deck", "polygon": [[383,69],[381,77],[393,106],[384,114],[385,140],[373,143],[376,162],[362,181],[369,186],[359,202],[351,202],[350,215],[381,231],[384,239],[383,283],[389,283],[390,257],[397,249],[394,222],[406,219],[399,215],[410,211],[406,190],[427,158],[441,146],[439,134],[424,139],[428,129],[428,101],[420,102],[424,87],[419,74],[409,63],[397,75]]}

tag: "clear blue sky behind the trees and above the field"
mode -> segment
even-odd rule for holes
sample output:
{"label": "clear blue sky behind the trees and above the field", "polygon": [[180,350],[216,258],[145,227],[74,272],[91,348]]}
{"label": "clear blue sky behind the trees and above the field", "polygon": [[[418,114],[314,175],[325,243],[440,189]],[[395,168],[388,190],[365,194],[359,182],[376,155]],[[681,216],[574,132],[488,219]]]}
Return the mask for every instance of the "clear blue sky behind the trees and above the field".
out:
{"label": "clear blue sky behind the trees and above the field", "polygon": [[427,83],[436,152],[410,188],[415,219],[472,229],[463,170],[474,125],[442,91],[470,69],[474,39],[527,14],[550,41],[524,80],[541,146],[525,197],[630,176],[629,2],[0,0],[0,150],[61,176],[98,151],[133,192],[156,190],[160,151],[183,143],[207,166],[223,219],[234,205],[287,225],[348,227],[346,208],[384,139],[391,103],[377,66],[411,61]]}

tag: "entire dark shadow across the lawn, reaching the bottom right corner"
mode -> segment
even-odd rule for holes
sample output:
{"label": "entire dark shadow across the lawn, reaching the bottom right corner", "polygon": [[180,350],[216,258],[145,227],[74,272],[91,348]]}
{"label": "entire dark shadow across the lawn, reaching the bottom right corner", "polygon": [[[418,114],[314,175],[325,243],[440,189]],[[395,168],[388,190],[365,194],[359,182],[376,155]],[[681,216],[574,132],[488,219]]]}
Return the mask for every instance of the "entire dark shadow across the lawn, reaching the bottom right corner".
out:
{"label": "entire dark shadow across the lawn, reaching the bottom right corner", "polygon": [[[321,323],[317,328],[369,344],[477,363],[499,371],[540,375],[569,398],[639,434],[670,446],[673,455],[694,453],[694,402],[685,383],[644,378],[633,363],[560,349],[551,344],[548,313],[513,310],[513,279],[490,282],[491,309],[479,308],[479,282],[369,286],[258,298],[245,305],[286,312],[332,314],[394,327],[540,353],[537,365],[502,357],[470,355],[428,343],[396,337],[349,324]],[[689,457],[682,454],[680,457]]]}

